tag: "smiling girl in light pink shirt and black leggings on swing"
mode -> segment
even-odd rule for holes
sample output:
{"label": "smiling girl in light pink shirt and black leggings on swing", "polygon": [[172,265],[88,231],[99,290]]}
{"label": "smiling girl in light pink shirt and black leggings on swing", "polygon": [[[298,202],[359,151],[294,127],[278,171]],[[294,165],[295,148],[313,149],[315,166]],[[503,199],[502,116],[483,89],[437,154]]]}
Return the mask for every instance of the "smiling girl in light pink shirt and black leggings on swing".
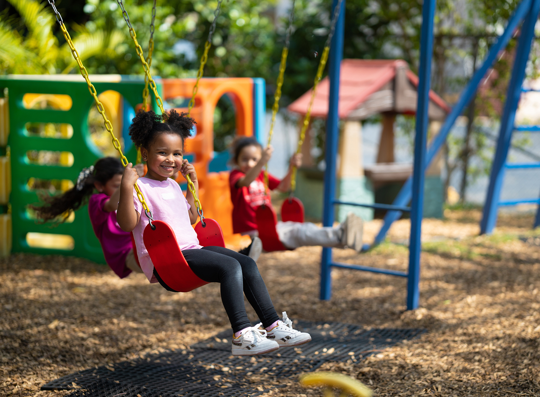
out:
{"label": "smiling girl in light pink shirt and black leggings on swing", "polygon": [[[223,247],[199,244],[191,226],[198,218],[194,197],[191,191],[184,197],[178,183],[171,179],[177,172],[184,177],[189,174],[195,192],[199,189],[195,168],[183,158],[184,140],[190,136],[193,122],[186,113],[178,114],[174,109],[164,115],[139,111],[130,126],[131,140],[140,148],[147,173],[139,178],[131,163],[127,165],[120,184],[117,220],[123,230],[133,231],[141,268],[150,282],[159,282],[170,290],[154,268],[144,245],[143,231],[149,220],[135,193],[136,183],[154,218],[165,221],[174,230],[193,273],[208,283],[221,284],[221,300],[234,333],[233,355],[262,354],[311,341],[308,333],[293,329],[285,312],[283,321],[279,319],[252,258]],[[261,320],[254,327],[246,314],[244,294]],[[260,325],[266,330],[259,330]]]}

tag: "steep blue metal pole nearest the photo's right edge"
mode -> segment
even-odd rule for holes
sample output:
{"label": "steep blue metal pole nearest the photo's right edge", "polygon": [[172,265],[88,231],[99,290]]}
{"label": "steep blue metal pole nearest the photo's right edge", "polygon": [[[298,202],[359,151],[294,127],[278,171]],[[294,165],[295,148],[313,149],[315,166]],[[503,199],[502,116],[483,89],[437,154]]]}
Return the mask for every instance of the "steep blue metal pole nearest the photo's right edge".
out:
{"label": "steep blue metal pole nearest the photo's right edge", "polygon": [[491,174],[489,177],[488,194],[485,197],[482,222],[480,222],[480,233],[491,234],[497,223],[498,201],[501,196],[501,188],[504,178],[504,163],[506,162],[512,131],[514,130],[514,120],[516,117],[517,104],[521,96],[521,85],[525,77],[525,67],[529,60],[532,38],[535,35],[535,24],[540,10],[540,0],[533,0],[519,36],[516,59],[514,60],[514,70],[508,85],[507,100],[504,104],[504,111],[501,118],[501,129],[497,140],[497,149]]}

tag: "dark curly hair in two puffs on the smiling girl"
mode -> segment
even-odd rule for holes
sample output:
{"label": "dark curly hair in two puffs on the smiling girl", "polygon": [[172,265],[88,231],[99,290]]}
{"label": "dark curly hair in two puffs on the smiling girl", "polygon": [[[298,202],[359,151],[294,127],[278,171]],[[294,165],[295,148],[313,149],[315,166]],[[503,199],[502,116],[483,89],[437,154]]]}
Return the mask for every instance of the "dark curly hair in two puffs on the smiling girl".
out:
{"label": "dark curly hair in two puffs on the smiling girl", "polygon": [[182,142],[191,135],[195,120],[187,113],[178,113],[171,109],[165,114],[156,114],[154,111],[140,110],[133,118],[129,127],[131,140],[137,148],[149,148],[158,135],[163,133],[178,134]]}

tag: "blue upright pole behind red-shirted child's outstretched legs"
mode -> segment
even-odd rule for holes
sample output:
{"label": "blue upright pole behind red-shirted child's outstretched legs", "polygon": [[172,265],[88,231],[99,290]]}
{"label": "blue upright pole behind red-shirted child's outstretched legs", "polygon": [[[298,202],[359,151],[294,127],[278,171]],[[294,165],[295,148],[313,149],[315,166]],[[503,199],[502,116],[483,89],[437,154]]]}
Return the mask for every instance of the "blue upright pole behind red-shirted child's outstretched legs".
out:
{"label": "blue upright pole behind red-shirted child's outstretched legs", "polygon": [[[334,224],[334,197],[336,188],[336,156],[338,154],[339,138],[339,77],[341,57],[343,54],[343,35],[345,33],[345,0],[341,0],[341,9],[332,43],[330,43],[330,56],[328,59],[330,79],[330,94],[328,98],[328,118],[326,120],[326,169],[325,169],[325,189],[323,198],[322,224],[332,226]],[[334,0],[332,4],[332,14],[338,6],[339,0]],[[332,295],[332,278],[330,277],[332,264],[332,248],[322,249],[321,258],[321,291],[320,299],[328,300]]]}

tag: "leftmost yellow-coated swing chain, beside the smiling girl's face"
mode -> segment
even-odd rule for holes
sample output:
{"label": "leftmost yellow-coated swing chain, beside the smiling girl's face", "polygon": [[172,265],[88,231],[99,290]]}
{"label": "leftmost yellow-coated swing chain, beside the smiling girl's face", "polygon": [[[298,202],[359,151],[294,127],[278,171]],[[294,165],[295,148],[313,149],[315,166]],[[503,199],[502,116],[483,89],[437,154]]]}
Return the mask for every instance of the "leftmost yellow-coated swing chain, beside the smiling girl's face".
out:
{"label": "leftmost yellow-coated swing chain, beside the smiling girl's face", "polygon": [[[107,117],[105,115],[105,108],[103,107],[102,102],[100,102],[99,99],[98,99],[98,94],[97,94],[96,88],[93,86],[92,83],[90,83],[88,72],[86,71],[86,68],[84,67],[82,60],[80,60],[80,58],[79,58],[79,53],[75,49],[75,45],[73,45],[73,42],[72,42],[71,37],[70,37],[70,35],[68,33],[68,30],[66,29],[66,27],[64,25],[64,21],[62,20],[62,16],[60,15],[58,10],[56,9],[55,0],[47,0],[47,1],[52,6],[53,11],[55,12],[56,21],[60,25],[60,29],[62,30],[64,38],[66,39],[66,42],[68,42],[71,53],[73,54],[73,58],[75,58],[75,60],[77,61],[77,65],[79,65],[80,74],[82,74],[82,76],[86,80],[86,84],[88,85],[88,91],[90,91],[90,94],[92,95],[92,97],[94,98],[94,101],[96,102],[96,107],[98,109],[99,114],[101,114],[102,117],[103,117],[103,121],[105,123],[105,128],[107,129],[109,134],[111,134],[112,145],[114,146],[114,148],[116,150],[118,150],[118,153],[120,154],[120,160],[122,161],[122,165],[124,167],[127,167],[129,162],[126,159],[126,156],[124,156],[124,153],[122,153],[122,148],[120,148],[120,141],[116,138],[116,136],[114,136],[114,133],[112,131],[112,124],[111,124],[111,122],[109,120],[107,120]],[[146,204],[146,200],[144,198],[143,193],[140,191],[137,184],[135,184],[134,188],[137,191],[137,198],[139,199],[139,201],[141,203],[141,206],[143,206],[146,216],[151,221],[153,221],[152,213],[149,210],[148,205]]]}

